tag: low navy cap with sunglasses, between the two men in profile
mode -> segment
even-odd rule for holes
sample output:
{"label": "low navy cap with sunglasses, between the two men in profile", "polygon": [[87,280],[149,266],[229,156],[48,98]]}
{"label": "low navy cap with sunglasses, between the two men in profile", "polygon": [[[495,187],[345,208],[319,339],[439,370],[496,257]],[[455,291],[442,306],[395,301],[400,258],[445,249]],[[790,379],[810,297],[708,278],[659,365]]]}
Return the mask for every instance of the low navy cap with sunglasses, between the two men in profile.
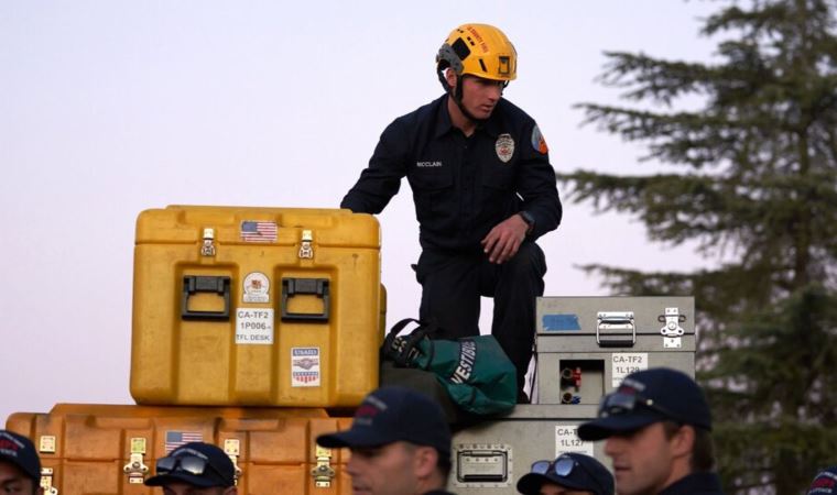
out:
{"label": "low navy cap with sunglasses, between the two men in profile", "polygon": [[594,495],[613,495],[613,475],[610,471],[594,458],[576,452],[532,464],[532,472],[518,480],[518,492],[537,495],[545,483],[591,492]]}

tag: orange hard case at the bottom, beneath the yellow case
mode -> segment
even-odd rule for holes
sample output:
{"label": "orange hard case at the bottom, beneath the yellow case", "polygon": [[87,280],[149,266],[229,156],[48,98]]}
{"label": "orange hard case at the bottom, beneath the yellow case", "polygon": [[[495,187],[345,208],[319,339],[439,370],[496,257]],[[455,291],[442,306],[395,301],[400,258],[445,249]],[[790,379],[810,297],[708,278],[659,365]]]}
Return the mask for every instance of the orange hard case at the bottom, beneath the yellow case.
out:
{"label": "orange hard case at the bottom, beneath the yellow case", "polygon": [[351,493],[348,451],[316,437],[351,426],[316,408],[149,407],[58,404],[48,414],[15,413],[7,429],[32,439],[41,486],[50,495],[151,495],[142,483],[155,461],[189,440],[224,449],[240,494]]}

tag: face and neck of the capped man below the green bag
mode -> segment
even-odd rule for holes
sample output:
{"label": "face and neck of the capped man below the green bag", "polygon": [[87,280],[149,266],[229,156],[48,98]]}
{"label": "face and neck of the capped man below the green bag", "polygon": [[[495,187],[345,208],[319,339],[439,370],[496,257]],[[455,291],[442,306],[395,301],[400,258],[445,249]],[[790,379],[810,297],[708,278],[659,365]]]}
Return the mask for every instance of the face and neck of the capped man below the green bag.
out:
{"label": "face and neck of the capped man below the green bag", "polygon": [[415,449],[405,442],[351,449],[346,471],[355,495],[404,495],[416,492]]}

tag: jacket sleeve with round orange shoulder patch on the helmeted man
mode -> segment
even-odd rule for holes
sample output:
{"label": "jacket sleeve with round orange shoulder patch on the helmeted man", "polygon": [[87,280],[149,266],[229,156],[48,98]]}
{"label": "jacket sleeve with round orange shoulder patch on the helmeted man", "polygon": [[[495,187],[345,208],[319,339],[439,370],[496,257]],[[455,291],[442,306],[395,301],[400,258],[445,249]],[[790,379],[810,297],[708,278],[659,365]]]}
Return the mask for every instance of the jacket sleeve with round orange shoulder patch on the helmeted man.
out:
{"label": "jacket sleeve with round orange shoulder patch on the helmeted man", "polygon": [[522,138],[522,152],[517,177],[517,189],[523,199],[522,210],[529,211],[535,220],[532,240],[557,229],[563,208],[558,198],[555,169],[550,164],[546,143],[532,122]]}

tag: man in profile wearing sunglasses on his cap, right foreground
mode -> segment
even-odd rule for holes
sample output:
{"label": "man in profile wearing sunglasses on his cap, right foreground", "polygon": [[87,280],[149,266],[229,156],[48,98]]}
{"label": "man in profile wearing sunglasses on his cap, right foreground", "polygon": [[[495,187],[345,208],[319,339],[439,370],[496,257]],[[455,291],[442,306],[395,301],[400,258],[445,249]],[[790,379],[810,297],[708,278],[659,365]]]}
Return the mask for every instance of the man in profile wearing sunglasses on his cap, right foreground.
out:
{"label": "man in profile wearing sunglasses on his cap, right foreground", "polygon": [[619,495],[721,494],[713,469],[711,415],[700,387],[665,367],[626,376],[581,424],[581,440],[602,440]]}

